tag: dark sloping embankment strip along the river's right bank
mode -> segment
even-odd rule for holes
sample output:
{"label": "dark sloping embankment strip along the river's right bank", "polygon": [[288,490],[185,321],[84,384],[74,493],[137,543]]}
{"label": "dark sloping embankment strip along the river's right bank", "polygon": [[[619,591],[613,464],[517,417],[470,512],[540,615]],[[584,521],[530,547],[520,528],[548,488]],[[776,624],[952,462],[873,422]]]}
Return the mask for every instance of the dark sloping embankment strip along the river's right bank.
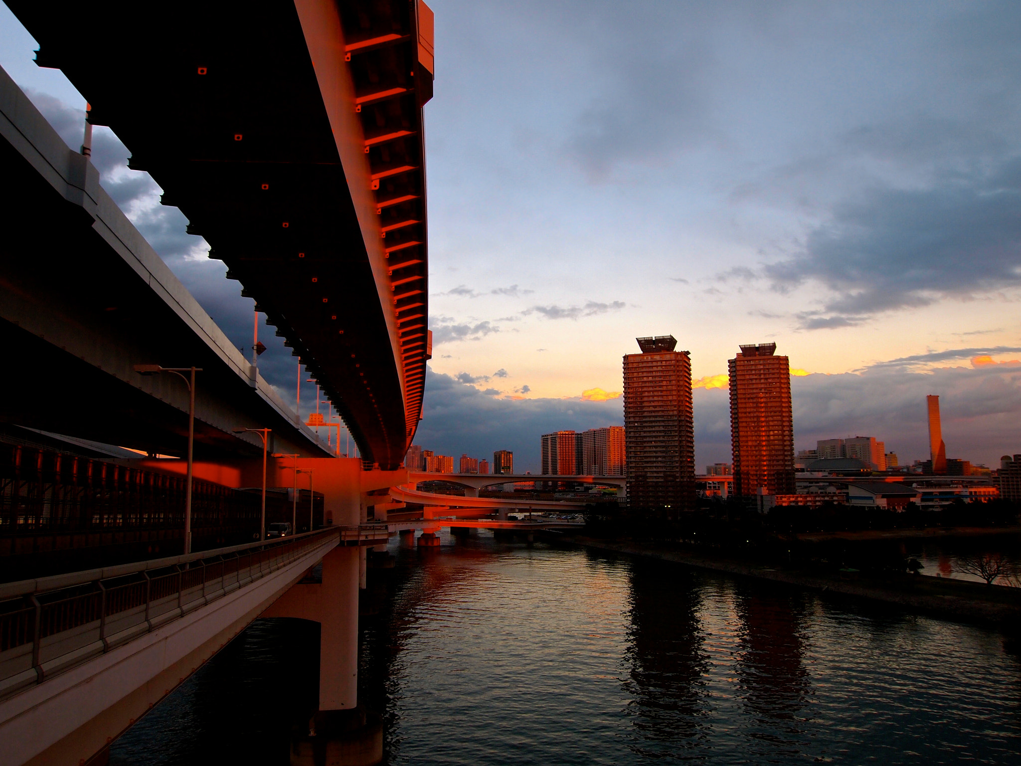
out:
{"label": "dark sloping embankment strip along the river's right bank", "polygon": [[770,567],[635,542],[610,542],[581,536],[558,539],[598,550],[657,559],[697,569],[782,582],[820,592],[840,593],[908,607],[936,617],[991,623],[1009,629],[1012,634],[1021,626],[1021,588],[1007,585],[985,585],[924,575],[905,575],[901,581],[869,577],[845,579],[837,575]]}

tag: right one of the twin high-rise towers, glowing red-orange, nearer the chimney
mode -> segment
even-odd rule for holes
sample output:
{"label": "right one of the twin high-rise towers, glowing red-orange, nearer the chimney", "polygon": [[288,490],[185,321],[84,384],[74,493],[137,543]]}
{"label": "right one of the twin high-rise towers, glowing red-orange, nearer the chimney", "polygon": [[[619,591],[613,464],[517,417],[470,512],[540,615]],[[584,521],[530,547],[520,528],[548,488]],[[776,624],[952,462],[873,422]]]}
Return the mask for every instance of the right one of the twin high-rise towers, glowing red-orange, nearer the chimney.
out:
{"label": "right one of the twin high-rise towers, glowing red-orange, nearer the chimney", "polygon": [[742,345],[728,363],[734,493],[793,494],[790,364],[776,343]]}

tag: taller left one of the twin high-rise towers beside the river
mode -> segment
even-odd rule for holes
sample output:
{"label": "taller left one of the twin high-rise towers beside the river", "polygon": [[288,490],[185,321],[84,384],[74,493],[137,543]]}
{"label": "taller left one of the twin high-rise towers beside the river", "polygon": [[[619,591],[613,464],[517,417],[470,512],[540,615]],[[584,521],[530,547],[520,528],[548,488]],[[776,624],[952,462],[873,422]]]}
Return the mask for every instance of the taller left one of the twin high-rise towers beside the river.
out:
{"label": "taller left one of the twin high-rise towers beside the river", "polygon": [[672,335],[636,338],[624,356],[628,504],[687,510],[695,504],[691,360]]}

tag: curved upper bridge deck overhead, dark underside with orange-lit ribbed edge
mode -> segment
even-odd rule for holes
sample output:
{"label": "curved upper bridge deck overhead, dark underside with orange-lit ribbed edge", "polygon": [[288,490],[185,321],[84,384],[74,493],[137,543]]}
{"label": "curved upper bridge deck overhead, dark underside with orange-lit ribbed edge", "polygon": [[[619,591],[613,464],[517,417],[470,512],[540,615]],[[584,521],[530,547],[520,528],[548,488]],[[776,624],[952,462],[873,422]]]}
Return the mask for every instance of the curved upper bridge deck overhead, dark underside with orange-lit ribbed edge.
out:
{"label": "curved upper bridge deck overhead, dark underside with orange-lit ribbed edge", "polygon": [[421,2],[8,3],[395,468],[429,357]]}

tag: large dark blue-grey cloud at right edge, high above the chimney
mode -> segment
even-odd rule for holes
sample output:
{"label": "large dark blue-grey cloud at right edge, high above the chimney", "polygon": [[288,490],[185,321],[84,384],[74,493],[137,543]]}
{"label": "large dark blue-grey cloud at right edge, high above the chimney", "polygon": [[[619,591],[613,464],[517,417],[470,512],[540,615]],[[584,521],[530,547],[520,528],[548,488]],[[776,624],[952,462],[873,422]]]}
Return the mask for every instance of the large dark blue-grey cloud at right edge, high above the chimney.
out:
{"label": "large dark blue-grey cloud at right edge, high above the chimney", "polygon": [[832,296],[804,329],[1021,285],[1021,157],[926,189],[877,188],[835,206],[805,248],[765,267],[785,292],[815,281]]}

